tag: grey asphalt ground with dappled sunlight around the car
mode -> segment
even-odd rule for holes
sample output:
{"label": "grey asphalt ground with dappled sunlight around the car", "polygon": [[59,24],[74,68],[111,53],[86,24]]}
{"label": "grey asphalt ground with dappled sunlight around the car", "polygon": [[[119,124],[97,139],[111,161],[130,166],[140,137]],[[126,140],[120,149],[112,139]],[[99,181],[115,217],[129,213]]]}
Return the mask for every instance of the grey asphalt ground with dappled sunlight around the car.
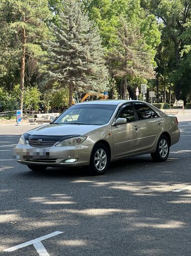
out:
{"label": "grey asphalt ground with dappled sunlight around the car", "polygon": [[0,255],[38,255],[33,245],[3,250],[60,231],[39,255],[190,256],[191,187],[173,192],[191,185],[191,115],[185,120],[165,163],[142,155],[98,177],[85,168],[31,172],[12,159],[31,125],[1,126]]}

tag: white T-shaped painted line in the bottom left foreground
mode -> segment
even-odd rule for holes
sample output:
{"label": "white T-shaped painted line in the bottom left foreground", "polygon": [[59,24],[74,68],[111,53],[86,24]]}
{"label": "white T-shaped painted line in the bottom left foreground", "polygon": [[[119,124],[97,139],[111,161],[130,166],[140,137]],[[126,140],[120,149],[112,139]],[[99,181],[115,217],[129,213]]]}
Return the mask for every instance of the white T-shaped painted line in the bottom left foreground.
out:
{"label": "white T-shaped painted line in the bottom left foreground", "polygon": [[48,239],[50,237],[53,237],[53,236],[57,236],[57,235],[59,235],[61,233],[63,233],[63,232],[56,231],[56,232],[53,232],[51,234],[48,234],[48,235],[41,236],[39,238],[30,240],[30,241],[28,241],[26,243],[10,247],[8,249],[5,249],[4,251],[8,251],[8,252],[16,251],[16,250],[21,249],[23,247],[26,247],[26,246],[29,246],[29,245],[33,245],[35,247],[36,251],[38,252],[39,256],[50,256],[50,254],[46,251],[46,249],[43,246],[43,244],[41,243],[41,241],[45,240],[45,239]]}

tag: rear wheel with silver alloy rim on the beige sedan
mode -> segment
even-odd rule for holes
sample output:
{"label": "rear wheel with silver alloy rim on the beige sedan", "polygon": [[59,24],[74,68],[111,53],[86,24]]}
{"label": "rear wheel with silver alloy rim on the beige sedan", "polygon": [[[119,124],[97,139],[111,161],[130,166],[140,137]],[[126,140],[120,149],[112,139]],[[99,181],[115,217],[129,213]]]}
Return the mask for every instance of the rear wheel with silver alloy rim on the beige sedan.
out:
{"label": "rear wheel with silver alloy rim on the beige sedan", "polygon": [[167,160],[170,151],[170,144],[167,136],[161,135],[158,139],[155,153],[151,153],[151,157],[155,162],[164,162]]}

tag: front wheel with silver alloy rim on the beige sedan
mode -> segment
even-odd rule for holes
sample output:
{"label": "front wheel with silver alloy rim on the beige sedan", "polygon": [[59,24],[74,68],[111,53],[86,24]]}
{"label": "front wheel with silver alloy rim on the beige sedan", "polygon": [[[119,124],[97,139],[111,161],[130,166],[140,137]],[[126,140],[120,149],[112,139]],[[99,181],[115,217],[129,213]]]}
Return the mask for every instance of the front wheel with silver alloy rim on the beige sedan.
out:
{"label": "front wheel with silver alloy rim on the beige sedan", "polygon": [[91,152],[89,172],[91,175],[102,175],[106,172],[110,162],[110,154],[104,144],[97,144]]}

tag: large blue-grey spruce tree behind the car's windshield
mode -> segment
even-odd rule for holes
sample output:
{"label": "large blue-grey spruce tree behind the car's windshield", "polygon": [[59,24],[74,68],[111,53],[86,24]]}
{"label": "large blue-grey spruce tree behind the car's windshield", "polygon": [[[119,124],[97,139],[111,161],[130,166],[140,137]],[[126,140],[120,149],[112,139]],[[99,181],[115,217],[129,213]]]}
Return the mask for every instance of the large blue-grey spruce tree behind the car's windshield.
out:
{"label": "large blue-grey spruce tree behind the car's windshield", "polygon": [[48,51],[46,76],[42,86],[49,88],[54,81],[69,88],[69,105],[77,91],[103,92],[107,86],[108,72],[104,65],[104,49],[99,33],[81,4],[74,0],[62,2],[63,11],[52,24],[54,40],[44,44]]}

